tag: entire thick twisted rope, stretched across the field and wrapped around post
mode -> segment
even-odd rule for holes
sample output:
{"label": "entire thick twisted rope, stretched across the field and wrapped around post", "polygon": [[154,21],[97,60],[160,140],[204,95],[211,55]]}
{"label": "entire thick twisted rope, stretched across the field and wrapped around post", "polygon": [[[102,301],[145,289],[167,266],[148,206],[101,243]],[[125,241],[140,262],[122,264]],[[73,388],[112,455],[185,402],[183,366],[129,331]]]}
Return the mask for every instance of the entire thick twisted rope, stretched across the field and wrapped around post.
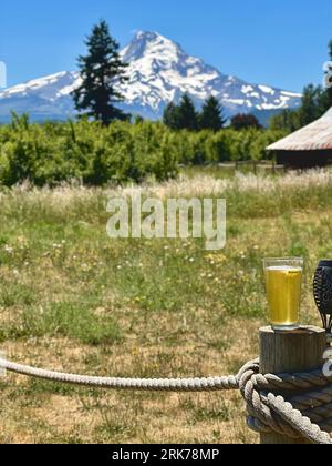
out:
{"label": "entire thick twisted rope, stretched across the field and wrapped around post", "polygon": [[[303,374],[259,374],[258,359],[227,377],[141,379],[91,377],[59,373],[9,362],[0,357],[0,369],[97,388],[154,392],[211,392],[240,389],[247,403],[248,426],[255,432],[278,433],[332,445],[332,378],[321,371]],[[301,392],[301,395],[298,395]],[[292,396],[295,393],[295,396]]]}

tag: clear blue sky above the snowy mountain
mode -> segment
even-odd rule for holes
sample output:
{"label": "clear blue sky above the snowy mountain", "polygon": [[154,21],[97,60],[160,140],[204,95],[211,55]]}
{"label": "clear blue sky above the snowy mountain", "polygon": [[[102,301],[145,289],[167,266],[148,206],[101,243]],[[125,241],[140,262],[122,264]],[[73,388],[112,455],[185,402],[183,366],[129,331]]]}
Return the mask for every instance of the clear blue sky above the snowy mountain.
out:
{"label": "clear blue sky above the snowy mountain", "polygon": [[301,91],[322,80],[331,0],[2,0],[0,61],[13,85],[75,69],[83,39],[105,18],[125,45],[158,31],[224,73]]}

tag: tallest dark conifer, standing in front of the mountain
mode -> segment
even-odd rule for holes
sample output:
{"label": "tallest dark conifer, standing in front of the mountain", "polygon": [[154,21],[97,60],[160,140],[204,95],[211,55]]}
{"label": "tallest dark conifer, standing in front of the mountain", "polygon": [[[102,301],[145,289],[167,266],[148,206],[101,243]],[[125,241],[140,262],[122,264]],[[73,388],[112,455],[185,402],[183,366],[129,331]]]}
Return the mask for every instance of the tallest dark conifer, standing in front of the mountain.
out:
{"label": "tallest dark conifer, standing in front of the mountain", "polygon": [[87,54],[80,55],[77,61],[82,84],[73,92],[76,110],[103,124],[127,119],[128,115],[114,107],[123,101],[118,84],[127,80],[127,65],[121,61],[120,45],[111,37],[105,21],[94,26],[85,44]]}

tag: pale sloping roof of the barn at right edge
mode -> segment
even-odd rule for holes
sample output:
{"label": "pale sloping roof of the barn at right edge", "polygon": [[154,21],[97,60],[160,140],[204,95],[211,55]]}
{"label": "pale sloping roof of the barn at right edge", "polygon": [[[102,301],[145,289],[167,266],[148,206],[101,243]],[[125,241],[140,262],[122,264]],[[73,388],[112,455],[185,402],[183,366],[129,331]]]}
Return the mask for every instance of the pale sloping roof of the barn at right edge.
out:
{"label": "pale sloping roof of the barn at right edge", "polygon": [[274,142],[268,151],[318,151],[332,149],[332,108],[319,120]]}

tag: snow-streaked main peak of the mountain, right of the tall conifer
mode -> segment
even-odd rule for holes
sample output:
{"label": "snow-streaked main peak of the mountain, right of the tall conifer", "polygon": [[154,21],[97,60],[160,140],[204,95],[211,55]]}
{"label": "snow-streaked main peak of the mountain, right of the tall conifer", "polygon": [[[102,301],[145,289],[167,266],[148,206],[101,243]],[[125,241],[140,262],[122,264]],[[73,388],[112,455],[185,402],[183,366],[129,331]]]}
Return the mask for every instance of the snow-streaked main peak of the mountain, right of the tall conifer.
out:
{"label": "snow-streaked main peak of the mountain, right of the tall conifer", "polygon": [[156,32],[137,32],[122,51],[129,63],[129,82],[124,91],[128,107],[143,107],[160,115],[169,101],[187,92],[200,104],[215,95],[228,114],[239,111],[295,108],[301,95],[268,85],[249,84],[222,74],[203,60],[189,57],[181,47]]}

